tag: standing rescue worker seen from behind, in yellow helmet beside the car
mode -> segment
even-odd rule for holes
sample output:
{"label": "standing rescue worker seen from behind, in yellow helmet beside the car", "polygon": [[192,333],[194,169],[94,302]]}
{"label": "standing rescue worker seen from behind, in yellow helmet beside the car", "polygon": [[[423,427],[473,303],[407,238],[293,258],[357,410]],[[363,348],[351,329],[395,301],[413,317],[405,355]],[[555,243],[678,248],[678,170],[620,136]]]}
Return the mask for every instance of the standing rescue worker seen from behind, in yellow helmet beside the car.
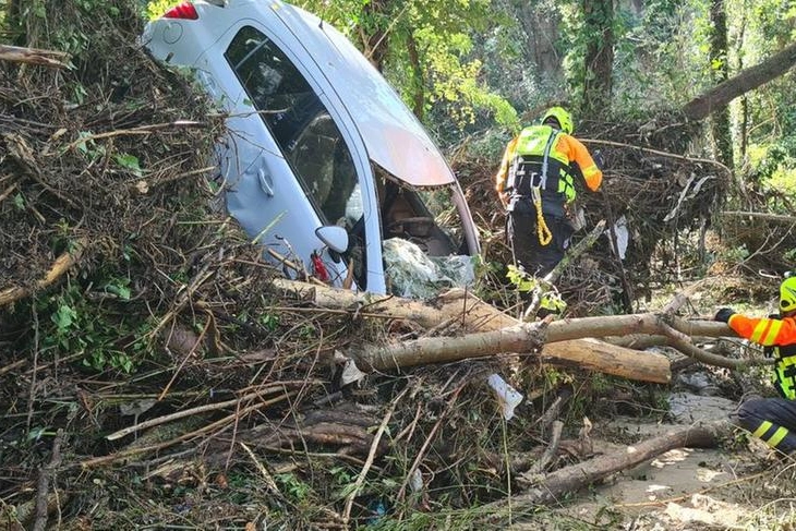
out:
{"label": "standing rescue worker seen from behind, in yellow helmet beside the car", "polygon": [[572,130],[569,112],[552,107],[508,143],[495,176],[515,265],[530,275],[544,277],[564,257],[575,231],[566,208],[576,196],[575,179],[593,192],[603,180],[602,157],[595,154],[595,164]]}

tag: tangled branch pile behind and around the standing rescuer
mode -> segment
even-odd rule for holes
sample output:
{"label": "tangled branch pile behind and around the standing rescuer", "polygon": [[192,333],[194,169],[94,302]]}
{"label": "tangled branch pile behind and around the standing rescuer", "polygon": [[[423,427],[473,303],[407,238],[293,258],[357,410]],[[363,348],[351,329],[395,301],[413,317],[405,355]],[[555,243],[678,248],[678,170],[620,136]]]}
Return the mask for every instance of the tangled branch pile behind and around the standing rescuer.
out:
{"label": "tangled branch pile behind and around the standing rescuer", "polygon": [[[602,152],[606,167],[599,193],[578,190],[574,212],[582,209],[586,224],[572,243],[600,220],[607,229],[557,282],[569,315],[608,307],[631,312],[630,301],[651,285],[678,278],[682,269],[701,260],[704,231],[725,201],[731,174],[722,165],[685,155],[697,132],[696,124],[677,113],[643,122],[587,121],[579,126],[577,136],[590,150]],[[462,150],[455,157],[456,171],[474,217],[486,229],[485,260],[510,263],[505,216],[495,208],[497,157],[469,159],[467,148]]]}

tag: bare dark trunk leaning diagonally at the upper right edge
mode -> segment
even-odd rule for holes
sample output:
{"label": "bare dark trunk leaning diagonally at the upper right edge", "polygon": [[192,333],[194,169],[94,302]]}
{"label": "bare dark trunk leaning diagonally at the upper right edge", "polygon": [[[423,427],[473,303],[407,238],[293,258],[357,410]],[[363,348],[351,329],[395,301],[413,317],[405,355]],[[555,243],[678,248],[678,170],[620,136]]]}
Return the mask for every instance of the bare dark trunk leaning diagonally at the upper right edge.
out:
{"label": "bare dark trunk leaning diagonally at the upper right edge", "polygon": [[796,43],[774,53],[765,61],[743,70],[738,75],[697,96],[683,107],[689,120],[699,121],[721,110],[733,99],[779,77],[796,64]]}

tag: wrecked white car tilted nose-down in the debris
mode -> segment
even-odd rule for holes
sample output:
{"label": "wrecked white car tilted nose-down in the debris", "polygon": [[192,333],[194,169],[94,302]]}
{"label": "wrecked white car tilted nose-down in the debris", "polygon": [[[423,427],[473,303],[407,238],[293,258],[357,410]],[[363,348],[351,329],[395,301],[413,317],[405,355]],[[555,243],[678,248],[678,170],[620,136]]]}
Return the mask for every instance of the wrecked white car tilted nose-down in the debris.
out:
{"label": "wrecked white car tilted nose-down in the debris", "polygon": [[191,68],[229,113],[219,146],[226,206],[266,256],[385,293],[389,239],[427,256],[479,253],[443,155],[378,71],[317,16],[280,1],[196,0],[147,24],[142,43]]}

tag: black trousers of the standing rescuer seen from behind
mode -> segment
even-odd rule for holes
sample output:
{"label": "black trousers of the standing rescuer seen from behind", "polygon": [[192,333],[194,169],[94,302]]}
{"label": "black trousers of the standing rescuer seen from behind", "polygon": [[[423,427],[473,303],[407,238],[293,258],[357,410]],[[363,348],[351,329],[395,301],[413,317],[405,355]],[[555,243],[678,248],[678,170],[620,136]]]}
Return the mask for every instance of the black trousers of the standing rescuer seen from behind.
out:
{"label": "black trousers of the standing rescuer seen from behind", "polygon": [[553,234],[542,245],[536,228],[536,210],[530,202],[517,202],[508,213],[506,234],[515,265],[536,277],[547,275],[564,257],[572,236],[572,226],[565,217],[544,214],[544,222]]}

